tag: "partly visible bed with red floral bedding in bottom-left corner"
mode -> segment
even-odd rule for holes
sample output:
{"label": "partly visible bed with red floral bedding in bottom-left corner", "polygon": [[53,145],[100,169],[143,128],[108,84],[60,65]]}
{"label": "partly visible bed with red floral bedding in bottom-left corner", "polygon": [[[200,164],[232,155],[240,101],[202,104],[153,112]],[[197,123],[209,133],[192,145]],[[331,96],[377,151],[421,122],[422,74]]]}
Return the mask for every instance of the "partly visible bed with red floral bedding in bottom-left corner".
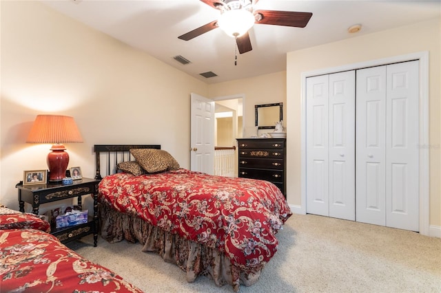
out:
{"label": "partly visible bed with red floral bedding in bottom-left corner", "polygon": [[0,206],[1,292],[142,292],[48,232],[48,221]]}

